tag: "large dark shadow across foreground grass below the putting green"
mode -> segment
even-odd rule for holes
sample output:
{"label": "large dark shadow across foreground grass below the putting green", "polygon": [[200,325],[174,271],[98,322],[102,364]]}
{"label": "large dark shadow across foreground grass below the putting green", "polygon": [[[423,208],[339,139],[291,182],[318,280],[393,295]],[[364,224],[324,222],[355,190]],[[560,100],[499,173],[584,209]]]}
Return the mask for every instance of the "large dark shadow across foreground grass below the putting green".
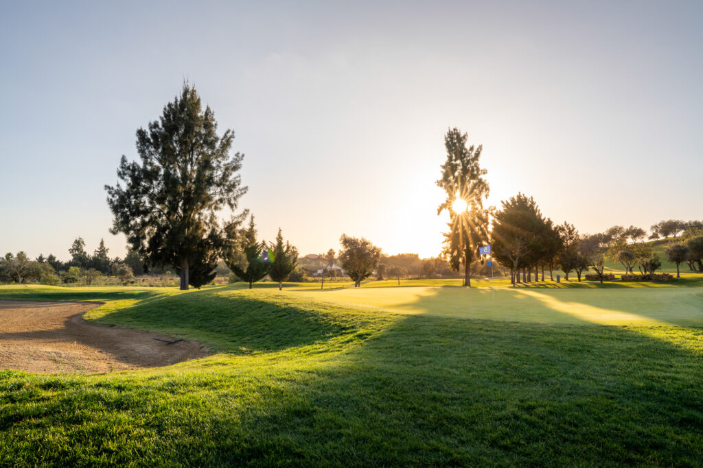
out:
{"label": "large dark shadow across foreground grass below the putting green", "polygon": [[702,343],[688,345],[613,326],[407,316],[273,395],[252,389],[260,406],[223,407],[207,461],[695,465]]}

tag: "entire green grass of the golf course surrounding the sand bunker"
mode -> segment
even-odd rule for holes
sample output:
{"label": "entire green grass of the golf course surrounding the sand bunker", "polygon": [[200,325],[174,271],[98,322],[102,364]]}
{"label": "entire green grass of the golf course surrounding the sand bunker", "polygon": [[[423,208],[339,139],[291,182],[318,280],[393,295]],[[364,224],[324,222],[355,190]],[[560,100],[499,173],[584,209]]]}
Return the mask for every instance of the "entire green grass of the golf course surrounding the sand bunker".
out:
{"label": "entire green grass of the golf course surrounding the sand bunker", "polygon": [[439,281],[0,286],[0,299],[101,301],[87,318],[217,353],[102,375],[0,371],[0,466],[696,466],[700,276],[501,286],[495,300]]}

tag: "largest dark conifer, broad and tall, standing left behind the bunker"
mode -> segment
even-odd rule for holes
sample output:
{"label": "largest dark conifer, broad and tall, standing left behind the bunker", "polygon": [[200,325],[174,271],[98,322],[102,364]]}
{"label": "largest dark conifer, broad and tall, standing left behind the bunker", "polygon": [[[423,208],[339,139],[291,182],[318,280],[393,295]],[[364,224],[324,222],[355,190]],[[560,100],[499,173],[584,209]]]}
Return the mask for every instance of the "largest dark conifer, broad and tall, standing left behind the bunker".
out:
{"label": "largest dark conifer, broad and tall, standing left behind the bunker", "polygon": [[231,130],[217,135],[212,109],[203,110],[195,88],[184,83],[160,120],[136,132],[141,164],[122,156],[117,176],[124,187],[105,185],[112,234],[123,232],[150,265],[179,269],[183,290],[191,267],[233,248],[246,215],[217,218],[225,206],[235,210],[247,191],[238,175],[244,156],[230,155],[233,140]]}

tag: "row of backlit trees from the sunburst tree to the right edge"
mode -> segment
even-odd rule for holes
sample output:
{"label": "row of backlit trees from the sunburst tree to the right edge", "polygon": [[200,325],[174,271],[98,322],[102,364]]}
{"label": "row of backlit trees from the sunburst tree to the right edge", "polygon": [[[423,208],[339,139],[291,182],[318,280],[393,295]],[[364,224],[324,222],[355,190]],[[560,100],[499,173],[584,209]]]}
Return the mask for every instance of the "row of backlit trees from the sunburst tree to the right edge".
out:
{"label": "row of backlit trees from the sunburst tree to the right edge", "polygon": [[[492,244],[492,255],[501,265],[510,269],[512,283],[535,280],[545,269],[553,279],[553,269],[559,268],[569,278],[576,272],[581,281],[582,272],[589,268],[602,282],[607,260],[621,262],[626,272],[637,267],[640,274],[654,274],[662,265],[651,243],[645,242],[647,232],[636,226],[614,226],[599,234],[580,235],[574,225],[565,222],[555,225],[545,218],[532,197],[518,193],[501,202],[498,210],[486,209],[489,185],[484,179],[485,169],[479,166],[482,147],[467,147],[467,134],[451,128],[444,138],[446,162],[441,166],[437,185],[445,190],[446,199],[438,214],[448,210],[449,231],[444,234],[444,255],[453,270],[463,266],[464,285],[470,286],[471,265],[478,256],[479,247]],[[489,217],[493,221],[489,226]],[[685,242],[672,243],[666,249],[667,258],[678,267],[688,262],[690,269],[703,272],[701,245],[703,222],[664,220],[651,227],[650,239],[676,238],[681,233]]]}

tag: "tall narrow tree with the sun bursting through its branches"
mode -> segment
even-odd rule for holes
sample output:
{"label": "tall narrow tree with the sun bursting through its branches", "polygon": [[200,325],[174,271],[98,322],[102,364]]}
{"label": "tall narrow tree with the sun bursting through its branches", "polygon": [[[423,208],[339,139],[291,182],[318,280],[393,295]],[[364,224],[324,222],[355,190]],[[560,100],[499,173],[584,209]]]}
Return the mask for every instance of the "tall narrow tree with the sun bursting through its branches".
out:
{"label": "tall narrow tree with the sun bursting through its branches", "polygon": [[444,136],[446,162],[441,166],[437,186],[446,192],[446,200],[437,208],[437,215],[449,211],[449,232],[444,233],[444,253],[449,265],[458,272],[464,265],[464,284],[471,286],[471,262],[478,248],[489,239],[489,211],[483,208],[489,185],[479,166],[483,147],[466,147],[467,134],[451,128]]}

